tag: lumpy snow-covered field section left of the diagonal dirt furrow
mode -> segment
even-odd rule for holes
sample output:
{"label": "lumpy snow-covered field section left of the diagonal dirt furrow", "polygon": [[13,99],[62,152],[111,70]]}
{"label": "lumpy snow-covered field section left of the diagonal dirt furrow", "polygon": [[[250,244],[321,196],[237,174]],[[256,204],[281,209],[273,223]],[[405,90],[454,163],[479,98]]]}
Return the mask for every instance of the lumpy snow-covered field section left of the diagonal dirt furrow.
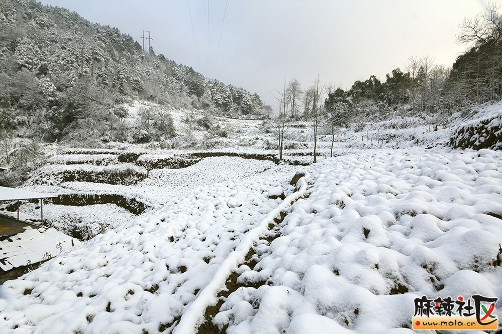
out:
{"label": "lumpy snow-covered field section left of the diagonal dirt furrow", "polygon": [[284,184],[292,193],[292,175],[261,174],[173,196],[162,210],[6,282],[0,332],[169,332],[228,255],[280,205],[267,190]]}

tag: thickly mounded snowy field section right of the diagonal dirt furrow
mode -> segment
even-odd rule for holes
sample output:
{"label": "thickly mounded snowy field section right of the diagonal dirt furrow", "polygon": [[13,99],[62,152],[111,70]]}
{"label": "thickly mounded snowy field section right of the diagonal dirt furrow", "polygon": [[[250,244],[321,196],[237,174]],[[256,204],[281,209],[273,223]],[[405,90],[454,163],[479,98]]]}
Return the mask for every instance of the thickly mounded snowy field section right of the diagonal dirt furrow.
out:
{"label": "thickly mounded snowy field section right of the diagonal dirt furrow", "polygon": [[500,296],[502,154],[368,153],[310,168],[312,193],[237,270],[220,328],[411,331],[417,296]]}

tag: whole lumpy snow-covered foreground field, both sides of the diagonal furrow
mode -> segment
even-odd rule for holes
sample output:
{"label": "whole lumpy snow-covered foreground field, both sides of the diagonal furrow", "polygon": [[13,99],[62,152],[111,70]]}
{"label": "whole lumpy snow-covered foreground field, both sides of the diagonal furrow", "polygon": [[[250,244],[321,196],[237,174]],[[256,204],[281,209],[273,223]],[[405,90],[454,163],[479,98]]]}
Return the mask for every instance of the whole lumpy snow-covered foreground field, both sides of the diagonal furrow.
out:
{"label": "whole lumpy snow-covered foreground field, both sides of the diagonal furrow", "polygon": [[63,251],[2,285],[0,332],[412,332],[418,296],[502,298],[501,152],[360,149],[305,173],[201,185]]}

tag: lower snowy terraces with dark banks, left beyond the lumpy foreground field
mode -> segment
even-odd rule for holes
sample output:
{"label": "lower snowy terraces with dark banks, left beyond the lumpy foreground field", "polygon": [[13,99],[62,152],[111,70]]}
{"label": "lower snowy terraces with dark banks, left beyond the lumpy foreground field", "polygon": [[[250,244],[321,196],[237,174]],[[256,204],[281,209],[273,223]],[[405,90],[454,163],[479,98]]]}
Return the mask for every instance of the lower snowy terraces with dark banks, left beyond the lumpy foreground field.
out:
{"label": "lower snowy terraces with dark banks, left beyond the lumpy foreground field", "polygon": [[[238,182],[243,178],[259,174],[277,174],[293,172],[296,168],[288,165],[276,165],[268,160],[244,159],[241,157],[217,156],[207,157],[197,163],[181,169],[154,169],[148,172],[145,179],[137,184],[109,184],[98,182],[70,181],[64,182],[58,172],[81,172],[89,171],[90,176],[103,170],[103,165],[92,164],[69,164],[61,161],[77,159],[77,161],[97,161],[95,156],[106,156],[107,161],[117,159],[110,158],[111,154],[59,154],[53,157],[54,163],[43,166],[34,177],[26,184],[26,189],[44,191],[55,195],[77,194],[82,196],[107,196],[119,194],[125,199],[134,199],[143,203],[148,212],[156,211],[175,196],[191,192],[197,187],[210,186],[221,182]],[[143,154],[141,157],[150,154]],[[68,157],[69,156],[69,157]],[[75,156],[77,158],[75,158]],[[164,157],[156,154],[155,157]],[[172,157],[173,155],[169,155]],[[57,161],[57,162],[56,162]],[[89,162],[90,163],[90,162]],[[121,165],[106,165],[106,168],[120,170]],[[138,169],[133,165],[132,169]],[[123,171],[123,170],[122,170]],[[145,171],[145,175],[146,175]],[[71,234],[78,231],[85,240],[115,228],[131,220],[134,215],[124,208],[111,203],[96,203],[94,205],[74,206],[60,204],[45,204],[45,219],[50,226]],[[37,213],[36,205],[25,203],[21,206],[23,212]]]}

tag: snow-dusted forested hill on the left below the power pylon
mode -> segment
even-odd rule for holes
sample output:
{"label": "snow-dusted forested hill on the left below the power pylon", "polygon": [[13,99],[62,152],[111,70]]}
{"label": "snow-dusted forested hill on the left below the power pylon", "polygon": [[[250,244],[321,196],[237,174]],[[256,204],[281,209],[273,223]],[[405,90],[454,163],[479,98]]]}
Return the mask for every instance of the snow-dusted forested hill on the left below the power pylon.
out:
{"label": "snow-dusted forested hill on the left below the power pylon", "polygon": [[99,137],[124,117],[114,106],[134,99],[233,117],[266,108],[257,94],[143,53],[116,28],[29,0],[0,2],[0,85],[0,131],[44,140]]}

